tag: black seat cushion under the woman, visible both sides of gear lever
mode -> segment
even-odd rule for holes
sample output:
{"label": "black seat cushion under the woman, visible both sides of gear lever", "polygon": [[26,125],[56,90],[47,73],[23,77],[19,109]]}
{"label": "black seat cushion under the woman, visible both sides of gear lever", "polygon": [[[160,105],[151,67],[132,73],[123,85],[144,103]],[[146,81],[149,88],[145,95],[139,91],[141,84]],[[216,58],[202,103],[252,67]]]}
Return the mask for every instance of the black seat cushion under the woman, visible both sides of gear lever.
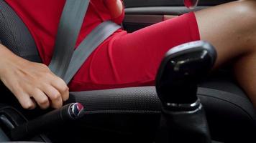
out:
{"label": "black seat cushion under the woman, visible both sides of gear lever", "polygon": [[[229,89],[239,90],[235,84],[229,84]],[[206,110],[213,139],[234,142],[252,137],[255,110],[245,94],[209,89],[206,85],[198,89],[198,97]],[[146,136],[155,134],[160,119],[161,104],[155,87],[72,92],[70,99],[84,105],[85,116],[81,124],[86,127],[133,134],[141,132]]]}

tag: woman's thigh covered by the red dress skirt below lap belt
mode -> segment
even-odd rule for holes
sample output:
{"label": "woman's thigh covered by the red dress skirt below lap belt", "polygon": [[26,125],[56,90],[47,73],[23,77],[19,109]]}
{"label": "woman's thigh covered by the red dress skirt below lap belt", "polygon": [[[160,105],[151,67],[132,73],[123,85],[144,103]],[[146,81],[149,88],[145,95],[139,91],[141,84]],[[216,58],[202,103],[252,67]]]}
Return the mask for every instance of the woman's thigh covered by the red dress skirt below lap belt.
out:
{"label": "woman's thigh covered by the red dress skirt below lap belt", "polygon": [[166,51],[198,39],[193,13],[131,34],[117,34],[91,54],[71,83],[72,87],[84,90],[155,84],[155,75]]}

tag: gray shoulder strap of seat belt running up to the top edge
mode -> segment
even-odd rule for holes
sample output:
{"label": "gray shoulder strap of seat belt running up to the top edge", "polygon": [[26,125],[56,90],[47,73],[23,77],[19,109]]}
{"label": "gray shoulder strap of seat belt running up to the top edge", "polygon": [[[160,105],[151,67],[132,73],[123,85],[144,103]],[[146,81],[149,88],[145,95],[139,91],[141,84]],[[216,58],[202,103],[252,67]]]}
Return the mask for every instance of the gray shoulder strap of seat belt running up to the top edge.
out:
{"label": "gray shoulder strap of seat belt running up to the top edge", "polygon": [[55,50],[49,64],[51,71],[63,78],[83,24],[89,0],[66,0],[60,17]]}

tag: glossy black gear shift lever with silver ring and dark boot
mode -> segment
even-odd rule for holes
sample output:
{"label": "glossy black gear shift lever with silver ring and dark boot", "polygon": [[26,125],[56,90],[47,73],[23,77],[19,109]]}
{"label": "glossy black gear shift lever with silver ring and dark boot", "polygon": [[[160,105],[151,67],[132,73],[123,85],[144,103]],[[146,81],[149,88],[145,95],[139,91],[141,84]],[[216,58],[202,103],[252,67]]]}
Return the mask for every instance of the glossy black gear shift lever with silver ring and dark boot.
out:
{"label": "glossy black gear shift lever with silver ring and dark boot", "polygon": [[210,142],[197,84],[214,65],[216,51],[206,41],[193,41],[170,49],[156,78],[157,95],[163,104],[168,142]]}

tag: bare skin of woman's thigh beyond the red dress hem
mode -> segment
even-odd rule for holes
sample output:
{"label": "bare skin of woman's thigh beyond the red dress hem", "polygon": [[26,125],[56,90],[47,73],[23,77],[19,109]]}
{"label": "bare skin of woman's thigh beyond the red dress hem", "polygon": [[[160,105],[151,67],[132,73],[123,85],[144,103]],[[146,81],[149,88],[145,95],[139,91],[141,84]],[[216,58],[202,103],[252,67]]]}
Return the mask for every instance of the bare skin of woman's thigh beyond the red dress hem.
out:
{"label": "bare skin of woman's thigh beyond the red dress hem", "polygon": [[255,45],[255,1],[234,1],[195,14],[201,39],[216,47],[216,66],[250,52]]}

